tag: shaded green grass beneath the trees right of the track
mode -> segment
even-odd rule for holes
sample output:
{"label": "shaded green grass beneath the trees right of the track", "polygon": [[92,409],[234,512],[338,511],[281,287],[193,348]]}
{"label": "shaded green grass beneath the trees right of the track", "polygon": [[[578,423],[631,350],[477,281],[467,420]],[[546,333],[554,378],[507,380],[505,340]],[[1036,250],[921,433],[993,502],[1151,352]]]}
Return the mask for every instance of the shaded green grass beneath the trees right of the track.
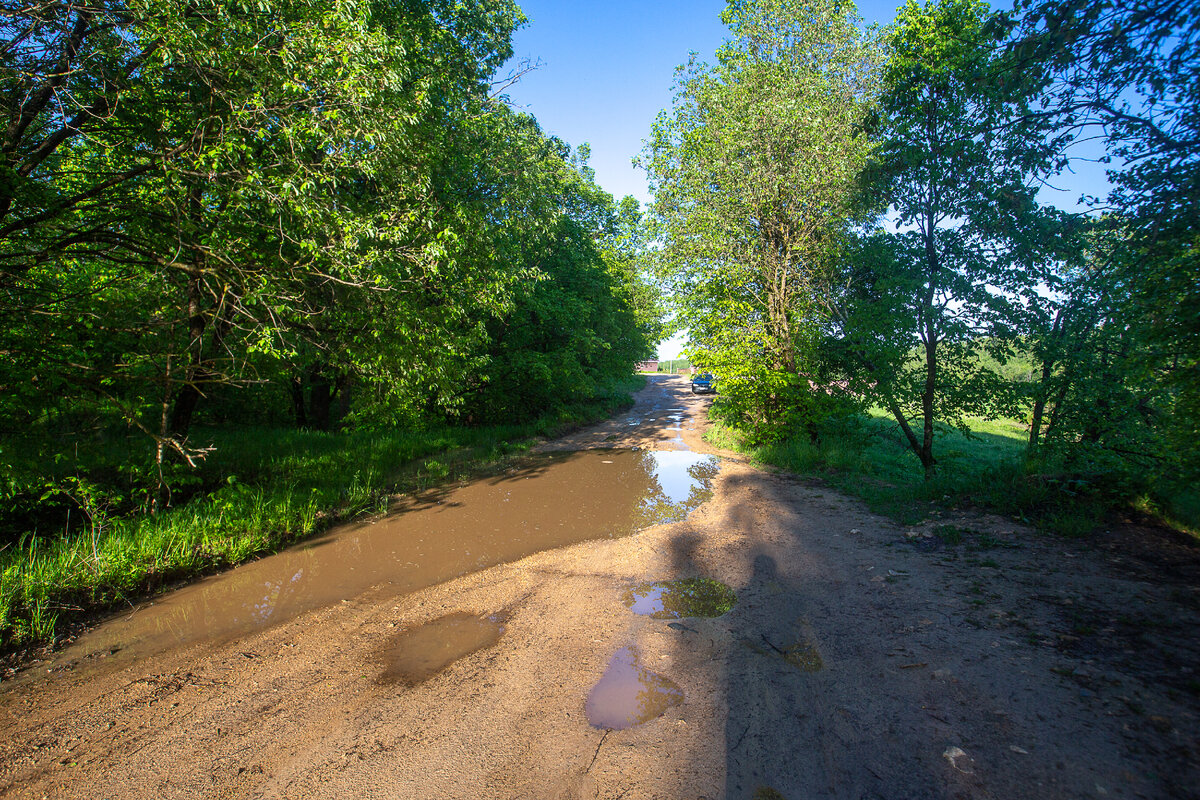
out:
{"label": "shaded green grass beneath the trees right of the track", "polygon": [[754,445],[718,420],[706,438],[754,462],[820,477],[902,524],[924,521],[942,506],[964,505],[1068,536],[1084,535],[1102,522],[1108,510],[1102,498],[1026,471],[1027,433],[1020,425],[971,420],[971,435],[938,433],[938,474],[931,481],[924,480],[917,457],[882,414],[844,421],[823,432],[818,445],[806,437]]}

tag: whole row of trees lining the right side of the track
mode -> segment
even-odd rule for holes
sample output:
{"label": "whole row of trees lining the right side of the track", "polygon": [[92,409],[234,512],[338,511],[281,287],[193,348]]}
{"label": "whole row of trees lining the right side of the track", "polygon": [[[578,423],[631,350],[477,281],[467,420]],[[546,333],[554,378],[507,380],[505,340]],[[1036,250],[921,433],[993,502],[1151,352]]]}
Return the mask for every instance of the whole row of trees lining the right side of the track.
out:
{"label": "whole row of trees lining the right side of the track", "polygon": [[[953,431],[1019,419],[1026,481],[1194,505],[1192,4],[910,0],[864,28],[848,2],[748,0],[724,19],[643,163],[656,266],[726,421],[818,445],[874,408],[932,481]],[[1044,190],[1084,156],[1111,192],[1055,207]]]}

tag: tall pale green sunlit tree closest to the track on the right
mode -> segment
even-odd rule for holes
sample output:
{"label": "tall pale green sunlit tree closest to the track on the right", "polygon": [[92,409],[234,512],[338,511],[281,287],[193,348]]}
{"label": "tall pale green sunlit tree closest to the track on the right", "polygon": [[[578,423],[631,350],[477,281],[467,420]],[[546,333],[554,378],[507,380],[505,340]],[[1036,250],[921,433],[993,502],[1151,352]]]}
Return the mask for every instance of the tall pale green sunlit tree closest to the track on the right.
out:
{"label": "tall pale green sunlit tree closest to the track on the right", "polygon": [[815,431],[822,295],[870,144],[877,43],[852,4],[731,2],[713,66],[680,71],[643,157],[659,269],[692,361],[761,435]]}

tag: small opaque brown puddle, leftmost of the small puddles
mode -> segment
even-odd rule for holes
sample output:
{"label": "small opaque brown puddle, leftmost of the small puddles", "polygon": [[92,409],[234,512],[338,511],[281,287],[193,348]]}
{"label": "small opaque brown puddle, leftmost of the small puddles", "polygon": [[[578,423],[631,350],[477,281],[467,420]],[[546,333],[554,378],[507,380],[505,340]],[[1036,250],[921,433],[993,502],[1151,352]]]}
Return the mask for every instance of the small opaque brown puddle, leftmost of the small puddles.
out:
{"label": "small opaque brown puddle, leftmost of the small puddles", "polygon": [[384,682],[413,686],[428,680],[458,658],[499,642],[503,621],[498,615],[460,612],[397,633],[379,651]]}

